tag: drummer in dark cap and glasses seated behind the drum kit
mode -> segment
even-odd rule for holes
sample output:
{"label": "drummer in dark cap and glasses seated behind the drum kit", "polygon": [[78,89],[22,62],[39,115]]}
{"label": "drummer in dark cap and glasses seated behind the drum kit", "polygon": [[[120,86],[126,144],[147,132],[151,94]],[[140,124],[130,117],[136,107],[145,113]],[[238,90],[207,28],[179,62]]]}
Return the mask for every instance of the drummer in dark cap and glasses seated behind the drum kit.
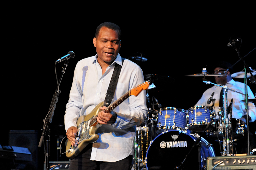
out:
{"label": "drummer in dark cap and glasses seated behind the drum kit", "polygon": [[[231,77],[231,72],[232,72],[232,65],[228,62],[219,62],[215,65],[214,69],[214,74],[221,74],[222,76],[214,76],[215,82],[218,85],[221,86],[227,86],[228,89],[235,90],[240,93],[245,93],[244,91],[244,83],[234,81]],[[227,71],[228,69],[228,71]],[[250,89],[249,86],[247,86],[248,90],[248,96],[249,99],[255,98],[254,94],[252,93],[252,90]],[[196,103],[195,106],[198,105],[203,105],[203,106],[212,106],[213,103],[211,102],[210,104],[207,104],[208,99],[211,97],[212,93],[214,92],[213,99],[214,101],[214,107],[216,114],[219,111],[218,107],[223,107],[223,104],[220,104],[220,100],[223,101],[223,99],[220,99],[220,93],[222,91],[222,88],[219,86],[214,85],[213,87],[207,89],[200,100]],[[224,93],[224,99],[225,99],[225,93]],[[232,104],[232,112],[231,115],[229,114],[228,117],[231,116],[231,118],[236,118],[240,119],[244,122],[246,122],[246,108],[245,108],[245,103],[240,102],[244,100],[244,95],[233,92],[231,90],[228,90],[227,93],[227,99],[228,99],[228,106],[230,105],[231,99],[233,99],[233,104]],[[226,106],[226,101],[224,101],[224,106]],[[254,103],[248,103],[248,108],[249,108],[249,122],[254,122],[256,120],[256,108]],[[226,115],[225,115],[226,116]],[[216,116],[216,119],[218,119],[219,116]]]}

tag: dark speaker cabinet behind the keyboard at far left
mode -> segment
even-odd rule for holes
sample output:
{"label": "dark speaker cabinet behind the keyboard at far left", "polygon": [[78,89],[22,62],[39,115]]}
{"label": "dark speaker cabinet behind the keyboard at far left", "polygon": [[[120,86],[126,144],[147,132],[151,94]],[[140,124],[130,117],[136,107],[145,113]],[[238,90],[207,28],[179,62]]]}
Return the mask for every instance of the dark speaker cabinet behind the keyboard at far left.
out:
{"label": "dark speaker cabinet behind the keyboard at far left", "polygon": [[26,169],[38,169],[38,132],[34,130],[10,130],[9,146],[28,148],[32,161],[27,163]]}

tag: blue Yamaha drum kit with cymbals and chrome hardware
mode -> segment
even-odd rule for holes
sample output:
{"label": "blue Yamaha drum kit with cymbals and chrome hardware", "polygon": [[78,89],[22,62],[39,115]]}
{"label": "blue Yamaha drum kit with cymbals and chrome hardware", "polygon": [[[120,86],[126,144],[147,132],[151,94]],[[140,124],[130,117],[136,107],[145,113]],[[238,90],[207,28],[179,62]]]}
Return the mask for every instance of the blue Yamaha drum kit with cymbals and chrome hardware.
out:
{"label": "blue Yamaha drum kit with cymbals and chrome hardware", "polygon": [[[203,68],[202,73],[187,76],[205,78],[221,75],[208,74],[206,68]],[[240,73],[236,73],[235,76],[239,78]],[[151,89],[157,88],[154,82],[162,79],[173,81],[169,76],[156,74],[147,74],[144,78],[152,83],[147,90],[148,104],[150,104],[148,93]],[[219,144],[220,156],[235,155],[233,143],[244,136],[243,121],[228,118],[227,111],[220,107],[214,110],[214,107],[194,106],[184,110],[162,107],[156,99],[155,101],[156,103],[150,104],[153,108],[148,107],[145,124],[136,128],[133,169],[168,167],[178,170],[191,169],[193,165],[205,170],[207,157],[218,156],[208,139]],[[249,102],[255,103],[255,99],[250,99]],[[218,119],[215,118],[217,115]],[[202,136],[206,136],[207,140]]]}

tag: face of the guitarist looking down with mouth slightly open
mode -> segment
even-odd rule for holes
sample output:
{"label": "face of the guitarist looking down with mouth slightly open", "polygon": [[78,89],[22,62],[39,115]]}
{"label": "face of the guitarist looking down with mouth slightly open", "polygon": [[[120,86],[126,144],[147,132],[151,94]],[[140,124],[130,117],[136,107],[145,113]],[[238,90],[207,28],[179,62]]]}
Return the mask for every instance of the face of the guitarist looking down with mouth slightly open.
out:
{"label": "face of the guitarist looking down with mouth slightly open", "polygon": [[93,38],[94,47],[98,54],[98,62],[105,62],[110,65],[117,57],[121,48],[121,40],[118,38],[118,32],[102,27],[97,38]]}

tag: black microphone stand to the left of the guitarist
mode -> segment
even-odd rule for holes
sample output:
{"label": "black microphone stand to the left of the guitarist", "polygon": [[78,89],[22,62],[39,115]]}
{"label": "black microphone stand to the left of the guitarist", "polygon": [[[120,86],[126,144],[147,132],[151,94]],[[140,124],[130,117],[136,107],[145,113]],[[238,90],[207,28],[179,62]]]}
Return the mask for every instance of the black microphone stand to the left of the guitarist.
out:
{"label": "black microphone stand to the left of the guitarist", "polygon": [[[38,147],[40,147],[40,148],[42,147],[42,145],[44,143],[44,137],[46,136],[47,137],[46,149],[45,149],[45,155],[46,155],[45,156],[45,159],[46,159],[45,168],[46,168],[46,170],[49,170],[49,157],[50,157],[50,128],[48,126],[49,126],[49,123],[52,123],[53,113],[56,108],[56,104],[58,102],[58,98],[59,98],[59,94],[60,94],[60,90],[59,90],[60,82],[61,82],[62,77],[66,71],[67,66],[68,66],[68,60],[65,61],[64,66],[62,67],[60,80],[58,81],[58,79],[57,79],[58,87],[53,94],[49,112],[47,113],[46,118],[44,119],[44,128],[41,129],[43,132],[42,132]],[[56,71],[56,69],[55,69],[55,71]],[[56,78],[57,78],[57,74],[56,74]]]}

